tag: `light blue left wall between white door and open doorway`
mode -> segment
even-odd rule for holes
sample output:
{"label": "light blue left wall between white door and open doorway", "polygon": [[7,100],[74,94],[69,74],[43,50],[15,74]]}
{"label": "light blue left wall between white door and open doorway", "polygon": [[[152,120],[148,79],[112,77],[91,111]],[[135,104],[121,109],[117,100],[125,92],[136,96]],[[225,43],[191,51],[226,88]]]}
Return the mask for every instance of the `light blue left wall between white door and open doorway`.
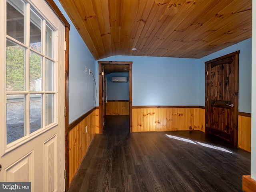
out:
{"label": "light blue left wall between white door and open doorway", "polygon": [[95,76],[95,59],[60,2],[58,0],[54,0],[54,2],[70,24],[68,122],[71,123],[95,106],[96,86],[94,79],[92,74],[89,75],[89,72],[85,73],[85,67],[87,67]]}

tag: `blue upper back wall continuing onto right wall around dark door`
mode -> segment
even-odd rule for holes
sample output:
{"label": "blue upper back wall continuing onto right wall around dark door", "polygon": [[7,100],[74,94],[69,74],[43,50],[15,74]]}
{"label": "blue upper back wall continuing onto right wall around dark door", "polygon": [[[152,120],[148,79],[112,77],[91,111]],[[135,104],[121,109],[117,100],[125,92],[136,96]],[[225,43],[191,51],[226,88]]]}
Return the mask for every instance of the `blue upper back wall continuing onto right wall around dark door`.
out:
{"label": "blue upper back wall continuing onto right wall around dark door", "polygon": [[132,61],[133,106],[205,106],[204,62],[240,50],[239,112],[251,113],[251,38],[201,59],[111,56]]}

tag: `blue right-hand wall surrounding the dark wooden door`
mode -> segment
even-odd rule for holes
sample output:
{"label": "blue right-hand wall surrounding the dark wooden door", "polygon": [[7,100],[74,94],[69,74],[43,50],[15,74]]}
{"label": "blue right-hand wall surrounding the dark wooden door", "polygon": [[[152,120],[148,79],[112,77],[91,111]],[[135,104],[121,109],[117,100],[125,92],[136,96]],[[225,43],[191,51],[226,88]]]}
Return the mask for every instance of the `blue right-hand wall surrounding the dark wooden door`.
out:
{"label": "blue right-hand wall surrounding the dark wooden door", "polygon": [[200,59],[200,106],[205,106],[205,64],[204,62],[240,50],[239,54],[239,91],[238,111],[251,113],[252,88],[252,39],[244,40],[233,46]]}

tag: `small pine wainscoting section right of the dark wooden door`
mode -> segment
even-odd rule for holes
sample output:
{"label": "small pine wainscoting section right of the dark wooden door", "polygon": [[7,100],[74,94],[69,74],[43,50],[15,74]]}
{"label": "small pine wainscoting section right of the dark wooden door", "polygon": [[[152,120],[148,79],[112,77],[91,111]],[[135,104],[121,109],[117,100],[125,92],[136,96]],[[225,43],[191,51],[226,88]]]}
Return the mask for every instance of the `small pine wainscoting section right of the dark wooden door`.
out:
{"label": "small pine wainscoting section right of the dark wooden door", "polygon": [[251,152],[251,117],[238,115],[237,146]]}

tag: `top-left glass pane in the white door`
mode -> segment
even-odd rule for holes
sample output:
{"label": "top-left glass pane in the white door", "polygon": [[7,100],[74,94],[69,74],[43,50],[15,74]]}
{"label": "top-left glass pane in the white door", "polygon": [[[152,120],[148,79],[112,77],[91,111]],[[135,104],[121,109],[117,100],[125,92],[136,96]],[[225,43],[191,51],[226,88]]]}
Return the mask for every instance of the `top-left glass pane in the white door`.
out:
{"label": "top-left glass pane in the white door", "polygon": [[24,43],[24,2],[21,0],[7,1],[6,33]]}

